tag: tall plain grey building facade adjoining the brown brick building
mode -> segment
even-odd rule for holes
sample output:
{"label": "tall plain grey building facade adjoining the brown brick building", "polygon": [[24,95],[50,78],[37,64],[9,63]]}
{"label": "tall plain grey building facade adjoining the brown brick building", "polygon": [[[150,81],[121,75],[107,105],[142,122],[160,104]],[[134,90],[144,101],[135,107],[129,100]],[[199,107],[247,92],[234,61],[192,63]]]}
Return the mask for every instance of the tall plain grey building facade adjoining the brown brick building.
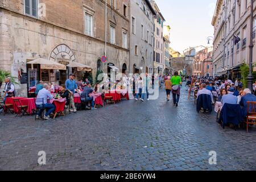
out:
{"label": "tall plain grey building facade adjoining the brown brick building", "polygon": [[155,11],[148,0],[131,0],[130,10],[130,73],[152,73]]}

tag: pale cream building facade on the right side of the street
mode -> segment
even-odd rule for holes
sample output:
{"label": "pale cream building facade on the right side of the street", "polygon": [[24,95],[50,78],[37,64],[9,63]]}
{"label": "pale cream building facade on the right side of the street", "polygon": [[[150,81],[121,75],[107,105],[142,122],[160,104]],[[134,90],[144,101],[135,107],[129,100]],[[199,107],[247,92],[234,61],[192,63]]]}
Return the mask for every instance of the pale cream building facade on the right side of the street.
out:
{"label": "pale cream building facade on the right side of the street", "polygon": [[[218,0],[212,20],[214,26],[213,75],[229,78],[240,77],[240,65],[249,64],[250,1]],[[254,3],[254,45],[256,26],[256,3]],[[240,42],[234,44],[235,39]],[[254,46],[253,52],[256,52]],[[253,54],[256,61],[256,54]]]}

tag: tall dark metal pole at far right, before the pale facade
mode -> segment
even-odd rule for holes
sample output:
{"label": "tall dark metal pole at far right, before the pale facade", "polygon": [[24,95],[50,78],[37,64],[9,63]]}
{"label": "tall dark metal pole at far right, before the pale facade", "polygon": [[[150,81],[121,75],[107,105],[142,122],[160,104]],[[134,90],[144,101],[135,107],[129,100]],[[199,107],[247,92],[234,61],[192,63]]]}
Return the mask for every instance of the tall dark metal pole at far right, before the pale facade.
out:
{"label": "tall dark metal pole at far right, before the pale facade", "polygon": [[251,0],[251,14],[250,14],[250,56],[249,56],[249,75],[247,78],[247,86],[253,90],[253,0]]}

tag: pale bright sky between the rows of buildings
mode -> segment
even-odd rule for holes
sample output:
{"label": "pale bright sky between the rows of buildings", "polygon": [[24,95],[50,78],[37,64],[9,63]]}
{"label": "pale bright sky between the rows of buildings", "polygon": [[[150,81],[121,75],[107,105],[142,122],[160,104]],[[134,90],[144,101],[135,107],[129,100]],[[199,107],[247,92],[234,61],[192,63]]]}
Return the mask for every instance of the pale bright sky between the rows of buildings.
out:
{"label": "pale bright sky between the rows of buildings", "polygon": [[[180,53],[193,46],[208,46],[213,36],[212,16],[217,0],[155,0],[171,26],[171,47]],[[210,42],[212,43],[212,42]]]}

